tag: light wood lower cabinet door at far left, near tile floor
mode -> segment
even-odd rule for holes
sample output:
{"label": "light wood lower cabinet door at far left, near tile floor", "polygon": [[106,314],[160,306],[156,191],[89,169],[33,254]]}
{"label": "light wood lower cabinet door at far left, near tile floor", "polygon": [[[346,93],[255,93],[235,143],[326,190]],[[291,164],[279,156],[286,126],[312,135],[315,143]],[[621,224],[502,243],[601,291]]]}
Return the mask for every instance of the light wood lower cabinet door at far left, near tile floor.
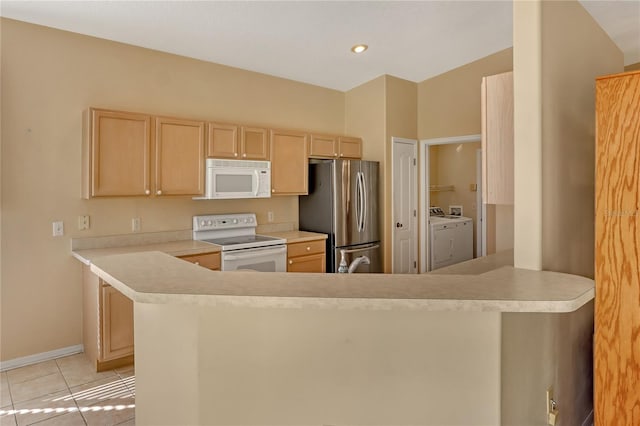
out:
{"label": "light wood lower cabinet door at far left, near tile floor", "polygon": [[133,354],[133,302],[108,284],[102,285],[102,359]]}

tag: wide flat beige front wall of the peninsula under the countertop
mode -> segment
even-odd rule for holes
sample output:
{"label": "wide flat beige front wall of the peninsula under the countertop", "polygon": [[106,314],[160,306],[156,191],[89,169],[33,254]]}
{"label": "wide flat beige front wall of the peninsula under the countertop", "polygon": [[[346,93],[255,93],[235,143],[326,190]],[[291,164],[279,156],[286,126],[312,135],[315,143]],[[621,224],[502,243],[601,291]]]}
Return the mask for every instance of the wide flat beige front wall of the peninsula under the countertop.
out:
{"label": "wide flat beige front wall of the peninsula under the countertop", "polygon": [[499,312],[134,309],[138,425],[500,424]]}

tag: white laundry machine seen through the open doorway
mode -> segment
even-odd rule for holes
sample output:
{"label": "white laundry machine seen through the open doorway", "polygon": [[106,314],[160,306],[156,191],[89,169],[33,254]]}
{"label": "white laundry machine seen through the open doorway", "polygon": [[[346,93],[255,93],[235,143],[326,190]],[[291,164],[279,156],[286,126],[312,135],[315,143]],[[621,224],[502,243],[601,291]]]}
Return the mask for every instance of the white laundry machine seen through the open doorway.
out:
{"label": "white laundry machine seen through the open doorway", "polygon": [[429,226],[431,270],[473,259],[473,219],[431,207]]}

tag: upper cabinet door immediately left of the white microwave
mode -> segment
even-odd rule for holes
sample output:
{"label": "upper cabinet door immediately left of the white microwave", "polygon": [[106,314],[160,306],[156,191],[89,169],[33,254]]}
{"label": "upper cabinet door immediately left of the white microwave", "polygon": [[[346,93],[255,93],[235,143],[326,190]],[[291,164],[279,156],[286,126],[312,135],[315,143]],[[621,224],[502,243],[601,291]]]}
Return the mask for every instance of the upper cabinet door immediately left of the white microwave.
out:
{"label": "upper cabinet door immediately left of the white microwave", "polygon": [[204,122],[156,118],[155,194],[204,193]]}

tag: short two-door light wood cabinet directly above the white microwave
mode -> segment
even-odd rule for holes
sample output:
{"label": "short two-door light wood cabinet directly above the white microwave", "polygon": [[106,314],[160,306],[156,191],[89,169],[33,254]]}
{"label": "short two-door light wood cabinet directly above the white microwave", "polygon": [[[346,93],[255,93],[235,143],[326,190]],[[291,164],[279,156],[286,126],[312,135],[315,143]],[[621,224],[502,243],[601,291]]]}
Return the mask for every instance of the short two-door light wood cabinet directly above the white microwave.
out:
{"label": "short two-door light wood cabinet directly above the white microwave", "polygon": [[209,123],[207,156],[237,160],[268,160],[269,133],[260,127]]}

